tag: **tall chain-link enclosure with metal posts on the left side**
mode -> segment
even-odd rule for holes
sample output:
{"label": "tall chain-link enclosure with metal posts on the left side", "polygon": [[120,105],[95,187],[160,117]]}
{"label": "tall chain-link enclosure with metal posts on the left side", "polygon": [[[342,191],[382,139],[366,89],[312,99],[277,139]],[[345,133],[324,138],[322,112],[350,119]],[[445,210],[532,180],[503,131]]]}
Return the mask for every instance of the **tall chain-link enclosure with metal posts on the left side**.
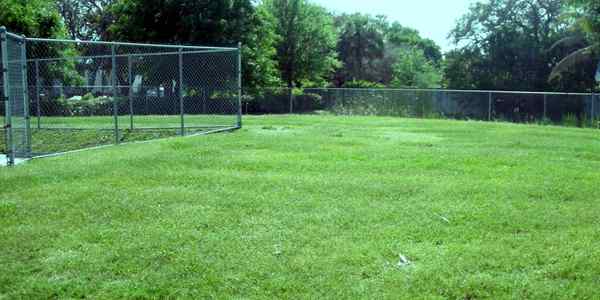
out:
{"label": "tall chain-link enclosure with metal posts on the left side", "polygon": [[239,47],[2,36],[9,158],[241,126]]}

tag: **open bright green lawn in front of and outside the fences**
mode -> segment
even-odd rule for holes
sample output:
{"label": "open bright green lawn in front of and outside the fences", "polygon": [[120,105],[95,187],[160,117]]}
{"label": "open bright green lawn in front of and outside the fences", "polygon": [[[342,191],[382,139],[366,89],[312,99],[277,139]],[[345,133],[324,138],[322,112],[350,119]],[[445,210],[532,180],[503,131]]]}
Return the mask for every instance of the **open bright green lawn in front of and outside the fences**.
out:
{"label": "open bright green lawn in front of and outside the fences", "polygon": [[244,122],[0,169],[0,298],[598,296],[598,130]]}

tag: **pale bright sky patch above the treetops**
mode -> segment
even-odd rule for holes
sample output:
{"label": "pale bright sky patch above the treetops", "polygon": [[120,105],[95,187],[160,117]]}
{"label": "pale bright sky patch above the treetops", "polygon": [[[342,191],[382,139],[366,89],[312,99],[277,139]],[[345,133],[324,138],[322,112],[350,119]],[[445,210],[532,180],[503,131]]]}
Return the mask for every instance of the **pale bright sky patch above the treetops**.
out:
{"label": "pale bright sky patch above the treetops", "polygon": [[390,21],[418,30],[434,40],[443,51],[454,46],[447,39],[458,18],[473,0],[312,0],[336,13],[386,15]]}

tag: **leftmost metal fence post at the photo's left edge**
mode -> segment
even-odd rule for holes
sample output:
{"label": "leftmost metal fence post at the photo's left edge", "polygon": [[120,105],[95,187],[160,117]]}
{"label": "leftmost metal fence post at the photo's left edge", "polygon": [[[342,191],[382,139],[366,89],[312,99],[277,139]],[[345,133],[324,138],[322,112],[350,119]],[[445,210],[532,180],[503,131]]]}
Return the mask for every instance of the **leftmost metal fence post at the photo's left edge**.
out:
{"label": "leftmost metal fence post at the photo's left edge", "polygon": [[10,99],[10,80],[8,78],[8,40],[6,35],[6,27],[0,27],[0,47],[2,49],[2,81],[3,81],[3,98],[5,107],[4,130],[6,137],[6,164],[12,166],[15,164],[14,144],[12,141],[12,106]]}

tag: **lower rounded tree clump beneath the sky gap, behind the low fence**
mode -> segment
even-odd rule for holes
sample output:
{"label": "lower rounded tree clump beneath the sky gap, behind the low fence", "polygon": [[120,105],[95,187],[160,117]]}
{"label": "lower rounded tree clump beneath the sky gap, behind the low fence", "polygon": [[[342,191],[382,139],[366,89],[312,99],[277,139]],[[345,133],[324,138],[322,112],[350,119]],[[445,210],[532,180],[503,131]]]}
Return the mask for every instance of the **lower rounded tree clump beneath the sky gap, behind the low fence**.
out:
{"label": "lower rounded tree clump beneath the sky gap, behind the low fence", "polygon": [[418,31],[390,23],[385,16],[353,14],[336,20],[344,64],[336,74],[336,85],[347,86],[346,81],[356,85],[358,80],[394,87],[439,86],[440,48]]}

